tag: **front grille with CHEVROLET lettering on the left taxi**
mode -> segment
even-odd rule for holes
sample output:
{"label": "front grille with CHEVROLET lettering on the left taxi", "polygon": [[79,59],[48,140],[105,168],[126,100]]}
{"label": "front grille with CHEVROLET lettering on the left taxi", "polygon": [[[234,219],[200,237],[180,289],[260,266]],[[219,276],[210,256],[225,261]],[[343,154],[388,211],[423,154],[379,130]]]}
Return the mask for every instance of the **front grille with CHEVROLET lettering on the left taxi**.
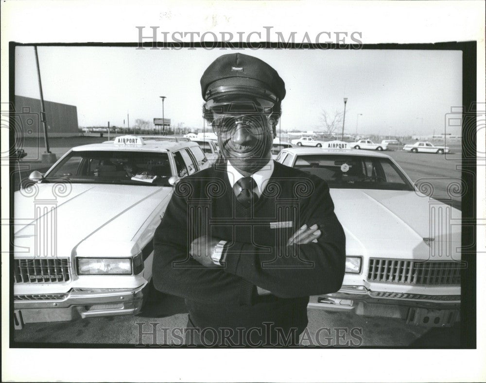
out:
{"label": "front grille with CHEVROLET lettering on the left taxi", "polygon": [[69,258],[14,259],[14,283],[69,281]]}

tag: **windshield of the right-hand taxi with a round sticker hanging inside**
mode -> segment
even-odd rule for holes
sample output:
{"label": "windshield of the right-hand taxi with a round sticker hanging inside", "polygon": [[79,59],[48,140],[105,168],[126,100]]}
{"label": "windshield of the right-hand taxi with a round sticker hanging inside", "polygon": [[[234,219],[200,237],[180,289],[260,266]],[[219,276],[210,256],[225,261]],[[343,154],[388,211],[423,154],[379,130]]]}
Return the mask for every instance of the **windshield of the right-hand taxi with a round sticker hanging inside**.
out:
{"label": "windshield of the right-hand taxi with a round sticker hanging inside", "polygon": [[411,190],[414,188],[388,158],[351,155],[299,155],[294,167],[325,180],[330,188]]}

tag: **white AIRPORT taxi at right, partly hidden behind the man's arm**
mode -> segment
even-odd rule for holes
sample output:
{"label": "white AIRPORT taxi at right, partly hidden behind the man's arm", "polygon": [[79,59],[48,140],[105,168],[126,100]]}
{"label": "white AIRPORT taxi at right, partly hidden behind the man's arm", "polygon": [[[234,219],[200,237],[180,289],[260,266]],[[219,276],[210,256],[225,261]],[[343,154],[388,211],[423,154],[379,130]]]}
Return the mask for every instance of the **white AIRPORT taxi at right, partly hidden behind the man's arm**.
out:
{"label": "white AIRPORT taxi at right, partly hidden behind the man's arm", "polygon": [[309,307],[403,318],[425,326],[459,319],[461,212],[420,193],[388,155],[348,149],[284,149],[278,162],[324,179],[346,233],[341,289]]}

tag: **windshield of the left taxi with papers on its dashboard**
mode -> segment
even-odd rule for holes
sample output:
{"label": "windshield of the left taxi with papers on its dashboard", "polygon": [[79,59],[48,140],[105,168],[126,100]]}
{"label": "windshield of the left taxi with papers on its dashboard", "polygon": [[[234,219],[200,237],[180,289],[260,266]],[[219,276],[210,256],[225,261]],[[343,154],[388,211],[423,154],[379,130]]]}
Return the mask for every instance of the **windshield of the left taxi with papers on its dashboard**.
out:
{"label": "windshield of the left taxi with papers on its dashboard", "polygon": [[44,177],[72,183],[169,186],[167,153],[141,151],[71,151]]}

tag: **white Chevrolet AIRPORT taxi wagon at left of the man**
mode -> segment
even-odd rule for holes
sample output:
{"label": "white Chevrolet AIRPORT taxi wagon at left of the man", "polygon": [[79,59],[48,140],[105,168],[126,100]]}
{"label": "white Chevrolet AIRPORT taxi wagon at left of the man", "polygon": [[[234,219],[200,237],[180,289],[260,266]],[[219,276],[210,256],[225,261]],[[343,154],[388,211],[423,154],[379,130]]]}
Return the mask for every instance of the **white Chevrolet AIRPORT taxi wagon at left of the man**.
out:
{"label": "white Chevrolet AIRPORT taxi wagon at left of the man", "polygon": [[14,195],[15,327],[138,313],[173,185],[207,166],[195,142],[128,135],[33,172]]}

